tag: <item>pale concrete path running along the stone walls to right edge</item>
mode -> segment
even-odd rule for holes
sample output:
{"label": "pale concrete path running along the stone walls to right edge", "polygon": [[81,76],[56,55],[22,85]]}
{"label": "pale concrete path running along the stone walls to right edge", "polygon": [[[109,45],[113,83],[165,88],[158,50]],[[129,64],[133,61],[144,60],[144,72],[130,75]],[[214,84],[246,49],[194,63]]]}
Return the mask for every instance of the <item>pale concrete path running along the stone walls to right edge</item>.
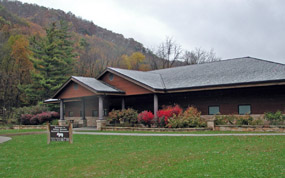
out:
{"label": "pale concrete path running along the stone walls to right edge", "polygon": [[285,133],[229,133],[229,134],[153,134],[153,133],[108,133],[108,132],[73,132],[79,135],[116,135],[116,136],[166,136],[166,137],[220,137],[220,136],[274,136]]}

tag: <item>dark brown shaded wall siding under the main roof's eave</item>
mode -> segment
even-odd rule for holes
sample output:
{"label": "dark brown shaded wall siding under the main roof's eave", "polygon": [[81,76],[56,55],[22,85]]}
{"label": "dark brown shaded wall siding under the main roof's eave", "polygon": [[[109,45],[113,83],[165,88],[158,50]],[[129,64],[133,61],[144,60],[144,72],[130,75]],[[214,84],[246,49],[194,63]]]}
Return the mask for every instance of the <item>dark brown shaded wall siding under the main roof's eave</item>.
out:
{"label": "dark brown shaded wall siding under the main roof's eave", "polygon": [[[120,103],[114,106],[120,108]],[[183,109],[195,106],[203,115],[208,115],[209,106],[219,106],[221,114],[238,114],[238,106],[251,105],[252,114],[285,112],[285,86],[195,91],[185,93],[158,94],[159,109],[163,105],[178,104]],[[126,107],[139,111],[153,111],[153,95],[127,96]]]}

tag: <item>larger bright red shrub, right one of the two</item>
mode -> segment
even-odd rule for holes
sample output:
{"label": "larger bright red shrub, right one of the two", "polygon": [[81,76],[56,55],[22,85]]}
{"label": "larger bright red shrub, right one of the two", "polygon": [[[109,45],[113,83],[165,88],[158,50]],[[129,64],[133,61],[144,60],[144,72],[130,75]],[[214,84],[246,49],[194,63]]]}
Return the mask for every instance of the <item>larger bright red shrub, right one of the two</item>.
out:
{"label": "larger bright red shrub, right one of the two", "polygon": [[173,117],[174,115],[177,116],[180,113],[182,113],[182,109],[179,105],[172,106],[166,106],[161,110],[157,111],[157,123],[160,127],[165,127],[168,124],[168,119],[170,117]]}

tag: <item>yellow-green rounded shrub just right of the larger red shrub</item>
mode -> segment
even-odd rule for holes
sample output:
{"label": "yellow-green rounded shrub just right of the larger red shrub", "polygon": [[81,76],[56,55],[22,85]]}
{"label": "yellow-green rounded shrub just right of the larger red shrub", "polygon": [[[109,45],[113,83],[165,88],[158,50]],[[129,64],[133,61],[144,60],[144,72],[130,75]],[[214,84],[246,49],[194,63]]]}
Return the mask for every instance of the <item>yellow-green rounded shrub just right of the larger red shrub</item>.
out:
{"label": "yellow-green rounded shrub just right of the larger red shrub", "polygon": [[201,112],[197,108],[188,107],[183,113],[173,115],[168,119],[167,127],[185,128],[185,127],[205,127],[206,122],[200,117]]}

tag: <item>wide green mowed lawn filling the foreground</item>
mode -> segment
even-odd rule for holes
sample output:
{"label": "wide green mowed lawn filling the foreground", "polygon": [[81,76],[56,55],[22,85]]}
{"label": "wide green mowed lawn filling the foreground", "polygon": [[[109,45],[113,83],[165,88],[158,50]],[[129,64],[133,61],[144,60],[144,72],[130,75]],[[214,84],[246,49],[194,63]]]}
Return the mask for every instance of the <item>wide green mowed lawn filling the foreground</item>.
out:
{"label": "wide green mowed lawn filling the foreground", "polygon": [[285,136],[135,137],[46,134],[0,144],[0,177],[285,177]]}

